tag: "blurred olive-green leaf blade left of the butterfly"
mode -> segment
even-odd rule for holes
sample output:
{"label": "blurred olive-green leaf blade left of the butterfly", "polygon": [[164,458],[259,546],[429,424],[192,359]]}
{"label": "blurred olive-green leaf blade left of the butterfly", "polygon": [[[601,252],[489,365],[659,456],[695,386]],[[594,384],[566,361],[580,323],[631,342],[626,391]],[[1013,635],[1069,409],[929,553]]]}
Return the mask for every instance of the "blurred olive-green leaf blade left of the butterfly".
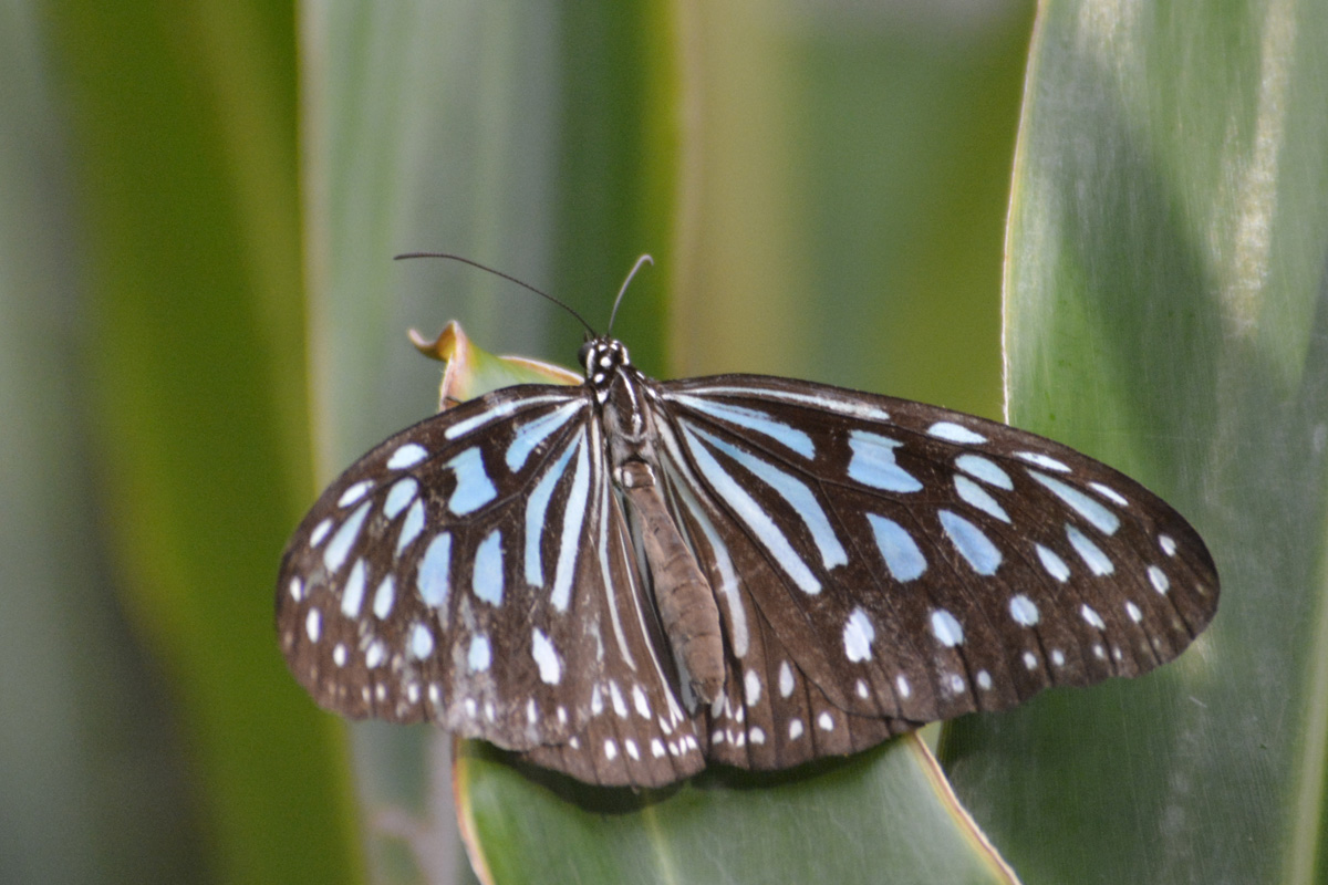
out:
{"label": "blurred olive-green leaf blade left of the butterfly", "polygon": [[[64,252],[86,271],[100,519],[178,703],[207,877],[353,881],[341,730],[292,685],[272,626],[276,561],[311,494],[291,12],[46,13],[85,222]],[[122,774],[101,772],[120,801],[153,801]]]}

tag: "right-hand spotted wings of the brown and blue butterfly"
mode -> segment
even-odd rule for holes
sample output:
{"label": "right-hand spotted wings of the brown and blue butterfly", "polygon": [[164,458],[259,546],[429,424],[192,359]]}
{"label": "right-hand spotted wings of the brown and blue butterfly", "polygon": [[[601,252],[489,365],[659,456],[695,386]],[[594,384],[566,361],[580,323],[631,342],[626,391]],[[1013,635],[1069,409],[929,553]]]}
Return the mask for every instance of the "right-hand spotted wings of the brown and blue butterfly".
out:
{"label": "right-hand spotted wings of the brown and blue butterfly", "polygon": [[785,767],[1137,675],[1216,609],[1189,523],[1052,441],[781,378],[657,391],[671,506],[728,638],[716,758]]}

